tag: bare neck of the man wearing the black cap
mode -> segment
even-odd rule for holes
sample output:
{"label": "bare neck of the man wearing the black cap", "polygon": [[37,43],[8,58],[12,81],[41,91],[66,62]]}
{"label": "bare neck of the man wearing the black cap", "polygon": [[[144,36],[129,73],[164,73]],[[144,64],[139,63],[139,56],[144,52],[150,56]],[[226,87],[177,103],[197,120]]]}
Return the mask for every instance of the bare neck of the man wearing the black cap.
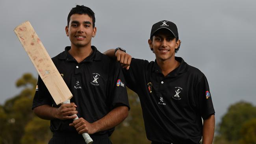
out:
{"label": "bare neck of the man wearing the black cap", "polygon": [[160,60],[156,59],[156,62],[158,66],[161,68],[161,72],[163,73],[163,76],[167,76],[171,71],[173,71],[175,68],[177,68],[180,63],[173,59],[168,59],[168,60]]}

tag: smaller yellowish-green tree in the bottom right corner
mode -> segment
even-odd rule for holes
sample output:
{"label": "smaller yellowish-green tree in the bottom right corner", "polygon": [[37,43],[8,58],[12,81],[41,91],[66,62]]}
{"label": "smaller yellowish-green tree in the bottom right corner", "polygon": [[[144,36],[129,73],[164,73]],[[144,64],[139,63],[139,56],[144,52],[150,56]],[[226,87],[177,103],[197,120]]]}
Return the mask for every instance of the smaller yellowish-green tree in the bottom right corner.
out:
{"label": "smaller yellowish-green tree in the bottom right corner", "polygon": [[256,118],[246,121],[240,131],[240,144],[256,144]]}

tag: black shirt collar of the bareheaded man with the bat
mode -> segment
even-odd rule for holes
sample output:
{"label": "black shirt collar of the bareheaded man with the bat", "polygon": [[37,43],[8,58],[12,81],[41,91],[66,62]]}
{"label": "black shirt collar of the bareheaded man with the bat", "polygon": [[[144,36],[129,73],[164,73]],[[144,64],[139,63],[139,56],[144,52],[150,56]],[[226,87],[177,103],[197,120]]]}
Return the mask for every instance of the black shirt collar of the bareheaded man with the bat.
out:
{"label": "black shirt collar of the bareheaded man with the bat", "polygon": [[[74,57],[69,54],[71,46],[66,46],[65,51],[59,54],[58,59],[65,59],[66,61],[75,61]],[[101,60],[101,53],[97,50],[95,46],[91,46],[93,53],[86,57],[82,62],[92,62],[92,61],[100,61]],[[81,63],[82,63],[81,62]]]}

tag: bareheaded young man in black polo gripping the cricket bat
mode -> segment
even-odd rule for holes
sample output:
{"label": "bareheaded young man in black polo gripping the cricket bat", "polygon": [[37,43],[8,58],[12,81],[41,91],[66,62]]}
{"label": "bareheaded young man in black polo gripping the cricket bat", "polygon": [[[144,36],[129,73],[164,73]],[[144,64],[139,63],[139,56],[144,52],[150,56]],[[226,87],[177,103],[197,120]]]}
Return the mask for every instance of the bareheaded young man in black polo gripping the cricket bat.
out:
{"label": "bareheaded young man in black polo gripping the cricket bat", "polygon": [[[89,7],[72,8],[65,30],[71,46],[52,60],[73,94],[71,103],[56,105],[39,76],[32,109],[50,120],[49,144],[85,144],[82,133],[88,133],[93,144],[111,144],[109,136],[129,109],[120,64],[91,46],[96,27]],[[79,119],[73,121],[74,114]]]}

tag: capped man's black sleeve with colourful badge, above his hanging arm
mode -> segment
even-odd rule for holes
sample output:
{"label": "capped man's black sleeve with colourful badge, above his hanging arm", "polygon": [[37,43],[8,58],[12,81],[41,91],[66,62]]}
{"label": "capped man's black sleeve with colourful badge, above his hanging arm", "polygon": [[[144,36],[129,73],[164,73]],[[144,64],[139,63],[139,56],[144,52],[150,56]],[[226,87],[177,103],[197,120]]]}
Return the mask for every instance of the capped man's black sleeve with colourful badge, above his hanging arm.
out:
{"label": "capped man's black sleeve with colourful badge, above his hanging arm", "polygon": [[208,81],[204,75],[197,84],[197,92],[200,114],[202,118],[205,120],[211,114],[215,114],[215,111],[213,108],[212,96],[210,93]]}

